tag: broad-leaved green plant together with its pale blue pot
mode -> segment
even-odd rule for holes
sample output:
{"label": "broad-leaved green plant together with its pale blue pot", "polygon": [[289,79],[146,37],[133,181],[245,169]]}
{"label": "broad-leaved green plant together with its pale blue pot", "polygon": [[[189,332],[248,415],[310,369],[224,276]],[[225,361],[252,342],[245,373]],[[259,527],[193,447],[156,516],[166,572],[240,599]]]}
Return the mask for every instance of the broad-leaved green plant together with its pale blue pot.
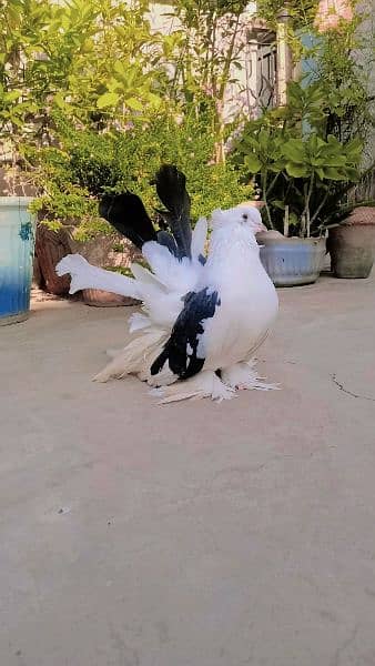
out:
{"label": "broad-leaved green plant together with its pale blue pot", "polygon": [[362,142],[326,134],[325,104],[318,82],[292,82],[287,105],[250,121],[236,144],[234,159],[262,193],[270,231],[259,236],[261,256],[277,286],[316,281],[325,228],[359,175]]}

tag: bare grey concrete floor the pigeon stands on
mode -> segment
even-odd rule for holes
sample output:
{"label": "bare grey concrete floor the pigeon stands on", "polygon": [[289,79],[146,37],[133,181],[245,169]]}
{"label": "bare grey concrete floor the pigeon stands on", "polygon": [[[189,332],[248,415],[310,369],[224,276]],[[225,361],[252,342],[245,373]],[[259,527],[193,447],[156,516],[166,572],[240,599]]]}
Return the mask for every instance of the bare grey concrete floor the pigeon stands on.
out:
{"label": "bare grey concrete floor the pigeon stands on", "polygon": [[0,329],[1,666],[374,666],[375,280],[280,296],[221,405],[90,382],[129,310]]}

